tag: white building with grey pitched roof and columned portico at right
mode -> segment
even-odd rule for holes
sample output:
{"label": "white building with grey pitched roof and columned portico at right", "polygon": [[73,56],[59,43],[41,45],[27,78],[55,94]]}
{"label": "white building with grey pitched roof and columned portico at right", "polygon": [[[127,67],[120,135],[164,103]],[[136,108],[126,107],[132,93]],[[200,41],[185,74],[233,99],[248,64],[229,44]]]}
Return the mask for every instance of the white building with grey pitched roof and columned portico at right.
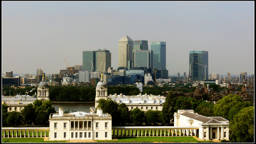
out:
{"label": "white building with grey pitched roof and columned portico at right", "polygon": [[197,126],[200,140],[229,140],[229,121],[222,117],[205,117],[194,110],[178,110],[174,113],[174,126]]}

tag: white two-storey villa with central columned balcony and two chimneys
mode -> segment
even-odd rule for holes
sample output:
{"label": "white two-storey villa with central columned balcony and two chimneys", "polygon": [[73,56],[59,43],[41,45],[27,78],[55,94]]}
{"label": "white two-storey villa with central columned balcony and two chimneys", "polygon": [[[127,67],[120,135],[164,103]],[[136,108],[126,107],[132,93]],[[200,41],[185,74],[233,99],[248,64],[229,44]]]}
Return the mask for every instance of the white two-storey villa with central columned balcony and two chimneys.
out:
{"label": "white two-storey villa with central columned balcony and two chimneys", "polygon": [[50,140],[111,140],[112,117],[98,108],[97,113],[72,112],[50,115]]}

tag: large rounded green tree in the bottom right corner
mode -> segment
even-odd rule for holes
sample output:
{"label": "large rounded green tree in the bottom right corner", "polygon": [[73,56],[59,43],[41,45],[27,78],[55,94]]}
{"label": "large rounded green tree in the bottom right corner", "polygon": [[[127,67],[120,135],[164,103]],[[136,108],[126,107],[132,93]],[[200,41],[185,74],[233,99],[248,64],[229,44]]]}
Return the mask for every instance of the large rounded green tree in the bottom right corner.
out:
{"label": "large rounded green tree in the bottom right corner", "polygon": [[235,142],[254,142],[254,107],[243,108],[229,123],[230,138]]}

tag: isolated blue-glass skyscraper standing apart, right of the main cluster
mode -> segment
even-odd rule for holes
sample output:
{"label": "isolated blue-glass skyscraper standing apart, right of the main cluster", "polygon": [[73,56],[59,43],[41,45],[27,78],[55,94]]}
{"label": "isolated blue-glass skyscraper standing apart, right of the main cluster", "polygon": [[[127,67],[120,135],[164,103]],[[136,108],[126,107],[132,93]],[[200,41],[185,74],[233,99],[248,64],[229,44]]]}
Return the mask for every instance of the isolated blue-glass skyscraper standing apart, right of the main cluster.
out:
{"label": "isolated blue-glass skyscraper standing apart, right of the main cluster", "polygon": [[[190,51],[191,79],[194,81],[208,80],[208,51]],[[190,70],[190,69],[189,69]]]}

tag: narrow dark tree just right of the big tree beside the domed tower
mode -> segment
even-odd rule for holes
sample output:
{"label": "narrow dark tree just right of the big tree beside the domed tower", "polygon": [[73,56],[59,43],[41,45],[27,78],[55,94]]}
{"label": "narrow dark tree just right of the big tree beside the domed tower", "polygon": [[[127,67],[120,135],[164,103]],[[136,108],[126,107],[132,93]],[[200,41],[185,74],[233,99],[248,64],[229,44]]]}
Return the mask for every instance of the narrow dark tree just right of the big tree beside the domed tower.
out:
{"label": "narrow dark tree just right of the big tree beside the domed tower", "polygon": [[121,125],[130,123],[130,111],[125,103],[118,105],[119,122]]}

